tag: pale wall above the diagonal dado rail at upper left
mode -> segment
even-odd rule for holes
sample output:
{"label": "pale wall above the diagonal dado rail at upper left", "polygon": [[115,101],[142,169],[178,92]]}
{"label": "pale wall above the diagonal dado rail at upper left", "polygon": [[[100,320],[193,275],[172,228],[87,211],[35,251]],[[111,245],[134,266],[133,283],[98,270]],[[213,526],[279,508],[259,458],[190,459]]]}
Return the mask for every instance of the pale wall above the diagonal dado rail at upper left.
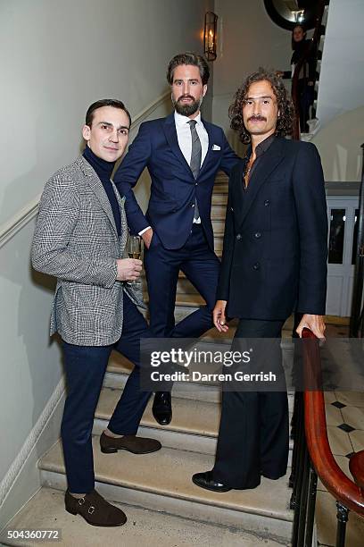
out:
{"label": "pale wall above the diagonal dado rail at upper left", "polygon": [[166,90],[170,57],[203,51],[211,0],[0,0],[0,226],[70,162],[87,105],[130,113]]}

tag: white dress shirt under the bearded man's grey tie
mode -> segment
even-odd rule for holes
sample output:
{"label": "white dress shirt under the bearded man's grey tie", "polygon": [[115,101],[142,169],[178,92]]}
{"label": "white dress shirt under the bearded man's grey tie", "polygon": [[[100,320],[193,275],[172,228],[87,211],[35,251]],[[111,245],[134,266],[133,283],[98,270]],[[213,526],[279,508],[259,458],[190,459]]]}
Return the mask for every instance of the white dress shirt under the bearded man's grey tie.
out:
{"label": "white dress shirt under the bearded man's grey tie", "polygon": [[[203,164],[203,160],[206,157],[207,150],[209,149],[209,135],[207,134],[207,131],[205,130],[203,126],[203,122],[201,121],[201,113],[197,114],[197,116],[194,118],[196,121],[196,131],[197,135],[201,142],[201,165]],[[189,165],[191,163],[191,155],[192,155],[192,137],[191,137],[191,128],[189,125],[190,118],[187,116],[183,116],[182,114],[178,114],[175,111],[175,124],[176,124],[176,131],[177,131],[177,139],[178,139],[178,146],[182,152],[182,154],[185,156],[186,162]],[[201,167],[200,165],[200,167]],[[194,219],[194,223],[200,224],[201,219],[196,218]],[[139,235],[143,235],[145,231],[149,230],[150,226],[145,228],[142,231],[139,231]]]}

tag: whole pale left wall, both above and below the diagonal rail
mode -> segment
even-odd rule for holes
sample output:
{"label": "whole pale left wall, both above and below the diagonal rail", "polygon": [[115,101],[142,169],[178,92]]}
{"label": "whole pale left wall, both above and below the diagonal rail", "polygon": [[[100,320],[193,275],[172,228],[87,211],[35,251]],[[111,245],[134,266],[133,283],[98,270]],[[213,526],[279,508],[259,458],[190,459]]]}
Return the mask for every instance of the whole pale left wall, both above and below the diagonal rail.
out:
{"label": "whole pale left wall, both above and below the diagonal rail", "polygon": [[[0,0],[0,234],[79,154],[91,102],[121,98],[136,115],[166,90],[171,56],[202,53],[209,7],[211,0]],[[0,481],[62,375],[48,339],[54,282],[29,265],[33,230],[34,221],[0,248]]]}

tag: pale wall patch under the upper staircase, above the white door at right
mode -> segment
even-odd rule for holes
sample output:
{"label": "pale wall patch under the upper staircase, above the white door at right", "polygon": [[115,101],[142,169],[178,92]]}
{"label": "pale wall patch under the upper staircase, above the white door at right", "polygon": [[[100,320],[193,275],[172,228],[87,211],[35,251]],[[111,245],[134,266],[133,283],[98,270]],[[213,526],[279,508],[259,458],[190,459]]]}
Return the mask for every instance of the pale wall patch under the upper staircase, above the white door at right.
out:
{"label": "pale wall patch under the upper staircase, above the white door at right", "polygon": [[361,106],[337,116],[312,139],[321,156],[325,181],[360,181],[363,128],[364,106]]}

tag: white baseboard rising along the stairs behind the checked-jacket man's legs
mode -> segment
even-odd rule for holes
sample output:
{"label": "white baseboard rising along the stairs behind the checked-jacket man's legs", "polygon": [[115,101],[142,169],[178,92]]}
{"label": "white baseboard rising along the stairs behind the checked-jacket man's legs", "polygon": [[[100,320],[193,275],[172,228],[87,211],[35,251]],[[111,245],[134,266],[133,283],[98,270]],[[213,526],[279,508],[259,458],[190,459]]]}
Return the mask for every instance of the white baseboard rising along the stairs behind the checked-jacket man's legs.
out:
{"label": "white baseboard rising along the stairs behind the checked-jacket man's legs", "polygon": [[37,462],[60,437],[63,404],[62,378],[0,483],[0,530],[41,487]]}

